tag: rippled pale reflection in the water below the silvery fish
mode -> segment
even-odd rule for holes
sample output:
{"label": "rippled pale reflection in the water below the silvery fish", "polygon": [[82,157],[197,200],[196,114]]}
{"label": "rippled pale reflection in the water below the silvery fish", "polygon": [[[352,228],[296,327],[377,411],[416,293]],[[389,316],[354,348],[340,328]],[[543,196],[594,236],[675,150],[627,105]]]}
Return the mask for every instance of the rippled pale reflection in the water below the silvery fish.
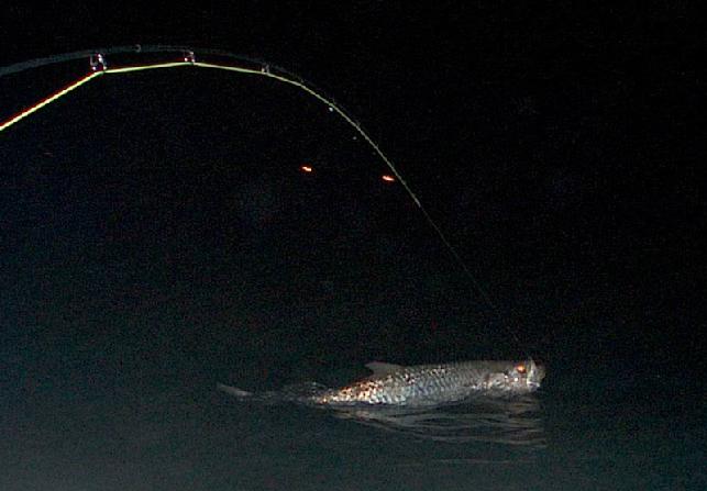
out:
{"label": "rippled pale reflection in the water below the silvery fish", "polygon": [[544,447],[540,403],[534,395],[476,398],[434,408],[349,406],[336,417],[379,429],[444,443],[487,442]]}

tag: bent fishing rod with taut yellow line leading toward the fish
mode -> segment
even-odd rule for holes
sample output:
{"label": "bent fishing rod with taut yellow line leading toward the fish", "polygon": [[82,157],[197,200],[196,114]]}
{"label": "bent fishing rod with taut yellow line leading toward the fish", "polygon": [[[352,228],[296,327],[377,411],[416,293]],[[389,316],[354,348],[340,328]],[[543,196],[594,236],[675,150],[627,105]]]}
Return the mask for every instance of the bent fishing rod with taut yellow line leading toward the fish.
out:
{"label": "bent fishing rod with taut yellow line leading toward the fish", "polygon": [[[110,55],[125,55],[125,54],[143,54],[143,53],[161,53],[161,54],[170,54],[173,56],[172,60],[165,63],[153,63],[145,65],[132,65],[123,67],[112,67],[109,65],[108,60]],[[225,65],[217,63],[217,60],[211,60],[209,63],[197,60],[196,54],[198,53],[199,57],[203,55],[212,56],[214,58],[227,58],[236,60],[240,65]],[[179,58],[175,59],[175,54],[179,54]],[[19,123],[21,120],[34,114],[40,109],[55,102],[59,98],[66,96],[67,93],[76,90],[80,86],[98,78],[102,75],[119,75],[132,71],[143,71],[151,69],[167,69],[167,68],[206,68],[206,69],[220,69],[232,72],[239,72],[244,75],[254,75],[266,77],[294,86],[308,94],[312,96],[323,104],[325,104],[330,112],[336,113],[342,118],[349,125],[351,125],[358,135],[373,148],[375,154],[385,163],[385,165],[390,169],[396,179],[400,182],[405,191],[408,193],[410,199],[415,202],[416,207],[422,213],[426,222],[434,231],[437,236],[442,241],[448,253],[459,265],[464,276],[472,283],[474,289],[478,292],[484,302],[490,308],[491,312],[498,315],[498,309],[495,302],[491,300],[490,295],[482,287],[480,282],[476,279],[476,276],[471,271],[464,259],[461,257],[456,248],[449,241],[442,228],[438,225],[434,219],[427,211],[424,205],[421,203],[417,194],[412,191],[407,180],[400,175],[396,165],[393,160],[380,149],[380,147],[373,141],[368,133],[363,129],[362,124],[357,122],[353,116],[349,114],[344,108],[334,101],[333,98],[324,94],[323,90],[316,88],[316,86],[301,77],[273,64],[266,63],[262,59],[248,58],[244,56],[234,55],[232,53],[220,51],[220,49],[198,49],[186,47],[186,46],[173,46],[173,45],[133,45],[133,46],[118,46],[106,49],[91,49],[91,51],[79,51],[74,53],[65,53],[60,55],[48,56],[44,58],[37,58],[29,62],[22,62],[7,67],[0,67],[0,78],[9,76],[12,74],[19,74],[25,70],[44,67],[52,64],[67,63],[71,60],[89,60],[90,72],[77,81],[70,83],[64,89],[58,90],[57,92],[42,99],[40,102],[34,105],[21,111],[19,114],[10,118],[9,120],[0,123],[0,133],[7,131],[12,125]],[[516,333],[506,324],[504,327],[510,333],[513,341],[518,344],[518,347],[521,347],[520,339]]]}

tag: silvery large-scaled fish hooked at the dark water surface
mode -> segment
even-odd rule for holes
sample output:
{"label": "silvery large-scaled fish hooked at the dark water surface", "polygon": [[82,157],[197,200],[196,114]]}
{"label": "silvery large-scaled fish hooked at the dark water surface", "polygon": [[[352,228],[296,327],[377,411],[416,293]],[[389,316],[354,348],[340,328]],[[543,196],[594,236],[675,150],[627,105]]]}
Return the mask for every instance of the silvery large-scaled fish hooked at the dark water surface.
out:
{"label": "silvery large-scaled fish hooked at the dark water surface", "polygon": [[239,399],[295,401],[318,406],[424,408],[464,401],[475,395],[513,397],[534,392],[545,367],[534,360],[476,360],[401,366],[380,361],[366,365],[371,376],[340,388],[312,383],[264,392],[261,395],[218,383]]}

